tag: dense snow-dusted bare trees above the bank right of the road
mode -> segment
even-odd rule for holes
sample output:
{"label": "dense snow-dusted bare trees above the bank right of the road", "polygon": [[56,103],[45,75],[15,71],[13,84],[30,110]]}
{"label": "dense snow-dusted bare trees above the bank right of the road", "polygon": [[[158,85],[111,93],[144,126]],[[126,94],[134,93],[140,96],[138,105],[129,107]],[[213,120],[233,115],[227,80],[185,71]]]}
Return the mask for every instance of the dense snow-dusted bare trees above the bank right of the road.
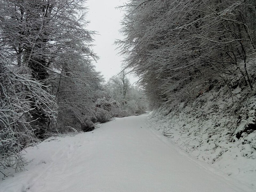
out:
{"label": "dense snow-dusted bare trees above the bank right of the road", "polygon": [[151,108],[189,101],[215,85],[253,88],[253,0],[130,0],[116,44]]}

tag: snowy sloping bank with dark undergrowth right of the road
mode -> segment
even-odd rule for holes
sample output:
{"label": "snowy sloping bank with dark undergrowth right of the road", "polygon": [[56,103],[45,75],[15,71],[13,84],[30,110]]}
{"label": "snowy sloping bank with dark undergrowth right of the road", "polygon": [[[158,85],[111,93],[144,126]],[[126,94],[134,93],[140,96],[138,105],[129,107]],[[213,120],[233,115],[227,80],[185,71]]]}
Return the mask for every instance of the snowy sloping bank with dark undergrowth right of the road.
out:
{"label": "snowy sloping bank with dark undergrowth right of the road", "polygon": [[151,112],[149,121],[180,148],[256,191],[255,110],[255,88],[236,88],[231,94],[222,87],[193,103]]}

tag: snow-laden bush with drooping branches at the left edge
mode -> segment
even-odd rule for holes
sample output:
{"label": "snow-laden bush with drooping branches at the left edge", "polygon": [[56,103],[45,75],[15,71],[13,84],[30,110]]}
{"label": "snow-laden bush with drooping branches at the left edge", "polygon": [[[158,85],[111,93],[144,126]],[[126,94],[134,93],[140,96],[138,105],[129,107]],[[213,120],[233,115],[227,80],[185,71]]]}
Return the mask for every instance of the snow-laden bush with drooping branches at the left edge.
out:
{"label": "snow-laden bush with drooping branches at the left edge", "polygon": [[37,140],[35,135],[40,129],[32,126],[33,111],[40,109],[51,120],[57,108],[47,86],[18,74],[6,61],[0,54],[0,172],[4,168],[22,168],[24,159],[19,152]]}

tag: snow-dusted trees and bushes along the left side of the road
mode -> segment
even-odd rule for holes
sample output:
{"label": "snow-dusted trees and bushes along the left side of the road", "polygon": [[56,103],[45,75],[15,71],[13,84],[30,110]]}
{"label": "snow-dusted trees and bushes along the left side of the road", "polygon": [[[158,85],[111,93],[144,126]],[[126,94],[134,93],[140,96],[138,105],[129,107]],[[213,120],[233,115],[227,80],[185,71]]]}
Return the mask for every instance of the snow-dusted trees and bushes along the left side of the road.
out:
{"label": "snow-dusted trees and bushes along the left side of the road", "polygon": [[86,0],[0,0],[0,172],[20,151],[59,133],[143,113],[125,71],[107,83],[92,60]]}

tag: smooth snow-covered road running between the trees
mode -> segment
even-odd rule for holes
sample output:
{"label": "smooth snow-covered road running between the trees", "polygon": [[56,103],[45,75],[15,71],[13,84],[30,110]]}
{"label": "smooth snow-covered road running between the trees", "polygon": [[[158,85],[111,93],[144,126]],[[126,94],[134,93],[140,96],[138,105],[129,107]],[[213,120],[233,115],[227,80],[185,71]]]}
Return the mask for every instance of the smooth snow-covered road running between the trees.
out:
{"label": "smooth snow-covered road running between the trees", "polygon": [[28,171],[0,181],[2,192],[253,191],[148,129],[147,115],[118,118],[76,136],[28,148]]}

